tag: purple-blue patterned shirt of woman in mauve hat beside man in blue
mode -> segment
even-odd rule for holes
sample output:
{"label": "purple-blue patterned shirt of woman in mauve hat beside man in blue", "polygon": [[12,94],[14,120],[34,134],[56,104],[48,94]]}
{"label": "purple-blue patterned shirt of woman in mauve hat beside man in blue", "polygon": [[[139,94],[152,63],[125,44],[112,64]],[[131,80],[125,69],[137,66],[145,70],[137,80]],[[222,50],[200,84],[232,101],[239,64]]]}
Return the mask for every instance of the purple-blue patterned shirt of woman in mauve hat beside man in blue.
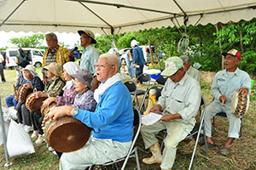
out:
{"label": "purple-blue patterned shirt of woman in mauve hat beside man in blue", "polygon": [[86,111],[95,111],[96,109],[96,100],[93,97],[93,92],[87,90],[83,94],[77,94],[73,106],[81,110]]}

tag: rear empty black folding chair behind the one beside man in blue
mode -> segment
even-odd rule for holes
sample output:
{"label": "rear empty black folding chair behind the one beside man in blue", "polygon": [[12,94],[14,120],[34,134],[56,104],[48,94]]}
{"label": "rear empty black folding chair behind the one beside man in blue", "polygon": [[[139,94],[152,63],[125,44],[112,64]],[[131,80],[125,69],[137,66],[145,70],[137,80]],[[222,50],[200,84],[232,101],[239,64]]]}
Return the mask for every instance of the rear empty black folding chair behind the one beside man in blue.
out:
{"label": "rear empty black folding chair behind the one beside man in blue", "polygon": [[[143,73],[143,74],[141,74],[140,76],[137,77],[136,82],[138,80],[140,80],[141,82],[146,82],[147,88],[146,88],[146,90],[137,88],[136,92],[131,92],[131,95],[136,95],[136,99],[137,99],[137,96],[140,96],[140,95],[143,95],[143,97],[144,97],[145,93],[147,92],[147,90],[149,88],[151,78],[148,76],[148,74]],[[140,105],[138,99],[137,99],[137,105]]]}

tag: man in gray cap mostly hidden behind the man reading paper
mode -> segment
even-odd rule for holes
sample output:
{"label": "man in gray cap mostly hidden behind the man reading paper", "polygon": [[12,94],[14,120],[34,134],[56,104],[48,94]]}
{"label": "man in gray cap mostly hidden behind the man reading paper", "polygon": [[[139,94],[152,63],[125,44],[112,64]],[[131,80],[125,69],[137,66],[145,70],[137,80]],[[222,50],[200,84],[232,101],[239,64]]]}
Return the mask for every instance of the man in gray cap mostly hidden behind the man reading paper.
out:
{"label": "man in gray cap mostly hidden behind the man reading paper", "polygon": [[195,80],[200,83],[200,72],[190,65],[189,57],[187,55],[182,55],[179,58],[183,59],[184,70],[189,76],[195,78]]}

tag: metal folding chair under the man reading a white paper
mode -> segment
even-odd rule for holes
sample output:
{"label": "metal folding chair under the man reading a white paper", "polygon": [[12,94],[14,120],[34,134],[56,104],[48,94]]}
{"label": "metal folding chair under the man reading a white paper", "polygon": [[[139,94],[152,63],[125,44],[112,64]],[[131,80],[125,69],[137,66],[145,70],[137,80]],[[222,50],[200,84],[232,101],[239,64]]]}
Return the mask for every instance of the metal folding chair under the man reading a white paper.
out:
{"label": "metal folding chair under the man reading a white paper", "polygon": [[[206,107],[207,107],[207,104],[205,102],[205,99],[203,99],[203,97],[201,97],[201,105],[199,107],[200,123],[195,123],[195,127],[192,129],[192,131],[186,137],[186,139],[189,139],[197,133],[196,140],[195,140],[195,147],[194,147],[194,150],[193,150],[193,153],[192,153],[192,156],[191,156],[189,169],[191,169],[193,161],[194,161],[195,150],[196,150],[196,147],[197,147],[197,144],[198,144],[198,141],[199,141],[199,137],[200,137],[200,134],[201,134],[201,128],[203,128],[205,147],[206,147],[206,156],[208,154],[207,136],[206,136],[206,130],[205,130],[205,126],[204,126]],[[166,135],[167,135],[166,130],[164,130],[163,132],[164,132],[164,137],[163,138],[160,137],[160,136],[157,136],[158,138],[162,139],[162,142],[161,142],[161,145],[160,145],[161,150],[162,150],[163,145],[164,145],[164,139],[166,138]]]}

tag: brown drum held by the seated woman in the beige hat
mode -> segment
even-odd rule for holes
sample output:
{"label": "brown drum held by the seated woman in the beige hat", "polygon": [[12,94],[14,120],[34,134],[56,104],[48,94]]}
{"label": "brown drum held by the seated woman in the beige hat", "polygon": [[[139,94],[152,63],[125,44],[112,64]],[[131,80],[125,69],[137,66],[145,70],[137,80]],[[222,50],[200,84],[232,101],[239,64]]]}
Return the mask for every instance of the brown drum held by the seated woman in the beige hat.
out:
{"label": "brown drum held by the seated woman in the beige hat", "polygon": [[[26,98],[26,108],[29,109],[30,111],[40,110],[44,100],[48,98],[48,96],[45,97],[44,94],[45,93],[41,91],[29,94]],[[38,97],[36,98],[36,96]]]}

